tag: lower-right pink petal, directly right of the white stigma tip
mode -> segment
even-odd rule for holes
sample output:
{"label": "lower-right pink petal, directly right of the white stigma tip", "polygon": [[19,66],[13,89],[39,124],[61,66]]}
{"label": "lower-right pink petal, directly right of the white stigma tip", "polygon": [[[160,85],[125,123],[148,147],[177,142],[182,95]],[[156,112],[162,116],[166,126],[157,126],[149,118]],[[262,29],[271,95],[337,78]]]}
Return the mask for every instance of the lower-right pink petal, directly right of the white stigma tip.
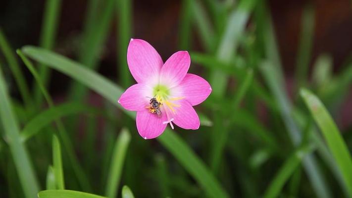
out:
{"label": "lower-right pink petal, directly right of the white stigma tip", "polygon": [[184,129],[199,129],[199,117],[193,106],[186,99],[179,100],[177,103],[181,106],[177,107],[173,123]]}

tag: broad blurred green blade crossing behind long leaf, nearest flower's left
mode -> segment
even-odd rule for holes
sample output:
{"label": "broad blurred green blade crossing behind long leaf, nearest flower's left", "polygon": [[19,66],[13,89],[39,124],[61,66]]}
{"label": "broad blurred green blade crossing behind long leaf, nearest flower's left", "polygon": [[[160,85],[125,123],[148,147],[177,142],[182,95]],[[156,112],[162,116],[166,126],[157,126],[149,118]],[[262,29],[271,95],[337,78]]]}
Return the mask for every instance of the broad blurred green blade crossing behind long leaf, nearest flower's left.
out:
{"label": "broad blurred green blade crossing behind long leaf, nearest flower's left", "polygon": [[[99,55],[106,40],[107,33],[110,27],[113,10],[116,0],[106,0],[102,15],[91,28],[86,32],[83,38],[82,49],[79,53],[79,62],[83,65],[96,69],[99,62]],[[71,87],[69,98],[82,100],[83,96],[87,93],[87,89],[81,84],[74,83]]]}

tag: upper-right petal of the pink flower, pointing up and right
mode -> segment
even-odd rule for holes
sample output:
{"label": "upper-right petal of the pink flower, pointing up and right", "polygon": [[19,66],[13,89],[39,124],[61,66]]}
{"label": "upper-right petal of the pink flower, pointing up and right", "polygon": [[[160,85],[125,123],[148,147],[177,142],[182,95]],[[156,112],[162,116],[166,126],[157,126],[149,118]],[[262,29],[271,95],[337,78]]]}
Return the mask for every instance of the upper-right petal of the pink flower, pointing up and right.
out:
{"label": "upper-right petal of the pink flower, pointing up and right", "polygon": [[181,83],[190,68],[191,57],[187,51],[177,51],[166,60],[160,71],[160,83],[169,87]]}

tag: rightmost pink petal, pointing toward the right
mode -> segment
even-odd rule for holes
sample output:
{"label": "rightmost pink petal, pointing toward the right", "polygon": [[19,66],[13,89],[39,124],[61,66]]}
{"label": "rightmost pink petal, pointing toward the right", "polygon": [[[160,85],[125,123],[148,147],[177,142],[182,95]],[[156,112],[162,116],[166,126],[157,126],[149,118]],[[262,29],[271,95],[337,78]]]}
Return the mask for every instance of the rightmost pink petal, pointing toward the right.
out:
{"label": "rightmost pink petal, pointing toward the right", "polygon": [[211,93],[209,83],[195,74],[187,74],[177,87],[179,97],[185,97],[192,106],[203,102]]}

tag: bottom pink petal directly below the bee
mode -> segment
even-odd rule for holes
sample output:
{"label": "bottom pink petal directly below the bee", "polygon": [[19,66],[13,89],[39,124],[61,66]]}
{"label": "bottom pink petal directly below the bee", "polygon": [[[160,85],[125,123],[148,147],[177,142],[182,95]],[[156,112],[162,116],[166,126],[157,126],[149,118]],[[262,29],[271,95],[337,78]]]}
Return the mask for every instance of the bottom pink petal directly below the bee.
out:
{"label": "bottom pink petal directly below the bee", "polygon": [[144,139],[152,139],[160,136],[166,128],[166,124],[163,124],[163,120],[166,119],[164,113],[162,117],[158,117],[156,114],[149,112],[148,109],[137,111],[136,125],[139,135]]}

